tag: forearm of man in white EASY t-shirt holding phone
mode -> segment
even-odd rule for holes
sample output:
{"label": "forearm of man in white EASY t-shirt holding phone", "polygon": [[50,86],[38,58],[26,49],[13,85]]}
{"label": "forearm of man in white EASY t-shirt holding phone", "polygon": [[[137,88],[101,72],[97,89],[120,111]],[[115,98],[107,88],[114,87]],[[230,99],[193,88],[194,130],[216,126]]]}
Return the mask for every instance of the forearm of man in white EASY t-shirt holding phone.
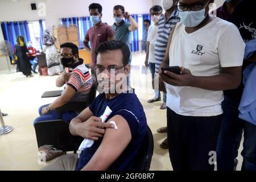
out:
{"label": "forearm of man in white EASY t-shirt holding phone", "polygon": [[241,78],[234,80],[232,75],[221,73],[216,76],[194,76],[193,82],[189,86],[206,90],[231,90],[236,89],[241,82]]}

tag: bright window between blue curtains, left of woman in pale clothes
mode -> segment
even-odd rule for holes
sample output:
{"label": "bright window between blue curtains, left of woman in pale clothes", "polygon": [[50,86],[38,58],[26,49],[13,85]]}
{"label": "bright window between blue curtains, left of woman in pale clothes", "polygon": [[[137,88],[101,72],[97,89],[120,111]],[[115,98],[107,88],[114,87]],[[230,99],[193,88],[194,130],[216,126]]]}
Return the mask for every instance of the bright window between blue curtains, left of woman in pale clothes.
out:
{"label": "bright window between blue curtains, left of woman in pale clothes", "polygon": [[[41,50],[39,21],[28,22],[28,28],[30,29],[30,39],[32,42],[32,47],[34,47],[37,51]],[[43,29],[46,30],[46,23],[44,21]]]}

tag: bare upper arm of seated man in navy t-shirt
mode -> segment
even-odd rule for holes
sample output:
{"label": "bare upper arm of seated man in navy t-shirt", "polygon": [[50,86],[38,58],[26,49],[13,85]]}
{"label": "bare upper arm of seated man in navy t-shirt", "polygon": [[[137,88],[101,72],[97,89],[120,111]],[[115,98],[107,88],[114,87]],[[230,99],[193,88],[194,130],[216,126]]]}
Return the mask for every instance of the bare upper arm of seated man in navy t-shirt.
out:
{"label": "bare upper arm of seated man in navy t-shirt", "polygon": [[100,147],[82,170],[106,170],[118,159],[131,141],[130,127],[125,118],[115,115],[110,118],[118,130],[106,129]]}

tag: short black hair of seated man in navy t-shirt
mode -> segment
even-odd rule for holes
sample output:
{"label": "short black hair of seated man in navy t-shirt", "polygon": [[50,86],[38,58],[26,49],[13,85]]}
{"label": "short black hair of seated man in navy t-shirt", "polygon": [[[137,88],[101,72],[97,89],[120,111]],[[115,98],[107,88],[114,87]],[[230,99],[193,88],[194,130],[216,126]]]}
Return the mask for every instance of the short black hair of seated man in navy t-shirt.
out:
{"label": "short black hair of seated man in navy t-shirt", "polygon": [[114,50],[121,50],[122,51],[123,65],[129,64],[130,49],[121,40],[110,40],[110,41],[107,41],[107,42],[102,42],[96,48],[96,55],[98,55],[99,53],[104,53],[106,51],[114,51]]}

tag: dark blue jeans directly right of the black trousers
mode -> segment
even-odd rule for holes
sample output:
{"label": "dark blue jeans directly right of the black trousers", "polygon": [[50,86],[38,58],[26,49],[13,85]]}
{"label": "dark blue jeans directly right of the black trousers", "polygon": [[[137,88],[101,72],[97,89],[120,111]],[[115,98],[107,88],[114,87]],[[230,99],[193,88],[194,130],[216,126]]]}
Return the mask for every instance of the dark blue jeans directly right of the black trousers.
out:
{"label": "dark blue jeans directly right of the black trousers", "polygon": [[238,118],[238,105],[229,97],[224,97],[221,104],[223,114],[216,149],[218,171],[234,170],[234,159],[238,156],[244,122]]}

